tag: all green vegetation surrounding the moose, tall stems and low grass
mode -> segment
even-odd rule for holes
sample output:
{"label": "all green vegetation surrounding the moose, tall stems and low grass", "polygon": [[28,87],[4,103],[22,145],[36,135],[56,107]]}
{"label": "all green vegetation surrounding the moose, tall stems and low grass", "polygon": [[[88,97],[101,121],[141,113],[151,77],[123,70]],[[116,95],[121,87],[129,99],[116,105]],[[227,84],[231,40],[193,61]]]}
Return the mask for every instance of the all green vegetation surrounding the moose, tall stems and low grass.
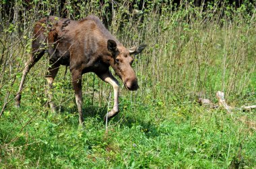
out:
{"label": "all green vegetation surrounding the moose, tall stems and low grass", "polygon": [[[0,168],[255,168],[255,1],[0,1]],[[104,21],[124,46],[148,44],[133,64],[139,90],[121,84],[121,113],[108,124],[113,89],[83,76],[85,127],[78,126],[71,76],[45,94],[45,54],[13,98],[34,23],[57,15]],[[197,104],[225,93],[232,113]]]}

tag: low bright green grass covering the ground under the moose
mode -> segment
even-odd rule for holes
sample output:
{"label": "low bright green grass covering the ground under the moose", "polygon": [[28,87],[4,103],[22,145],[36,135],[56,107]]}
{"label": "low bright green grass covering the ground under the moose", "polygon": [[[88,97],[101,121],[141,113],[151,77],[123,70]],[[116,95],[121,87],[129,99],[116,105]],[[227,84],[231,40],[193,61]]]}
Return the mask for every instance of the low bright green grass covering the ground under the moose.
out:
{"label": "low bright green grass covering the ground under the moose", "polygon": [[191,101],[150,97],[130,100],[125,91],[121,113],[110,121],[106,133],[102,121],[106,106],[98,107],[95,101],[92,106],[90,97],[84,99],[85,127],[79,128],[72,99],[61,113],[53,114],[36,99],[32,102],[29,93],[23,98],[22,109],[9,107],[0,119],[2,168],[256,165],[255,129],[241,121],[243,117],[255,121],[255,111],[233,111],[230,115]]}

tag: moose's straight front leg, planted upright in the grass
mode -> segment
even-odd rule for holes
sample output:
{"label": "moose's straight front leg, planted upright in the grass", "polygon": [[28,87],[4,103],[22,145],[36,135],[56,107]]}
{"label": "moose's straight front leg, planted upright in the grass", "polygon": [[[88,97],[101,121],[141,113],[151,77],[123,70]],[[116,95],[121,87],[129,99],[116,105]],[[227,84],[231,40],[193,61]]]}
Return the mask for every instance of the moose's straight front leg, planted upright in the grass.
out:
{"label": "moose's straight front leg, planted upright in the grass", "polygon": [[73,89],[75,91],[75,102],[77,105],[78,113],[79,113],[79,124],[83,125],[84,123],[84,116],[82,112],[82,72],[79,70],[72,70],[72,84]]}

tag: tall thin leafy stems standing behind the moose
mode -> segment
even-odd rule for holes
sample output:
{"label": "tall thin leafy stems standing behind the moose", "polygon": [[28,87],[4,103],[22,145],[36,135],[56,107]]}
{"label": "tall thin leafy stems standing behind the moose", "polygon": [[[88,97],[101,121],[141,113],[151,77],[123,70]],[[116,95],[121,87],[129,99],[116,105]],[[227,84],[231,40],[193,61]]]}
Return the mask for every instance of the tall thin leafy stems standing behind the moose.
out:
{"label": "tall thin leafy stems standing behind the moose", "polygon": [[[38,4],[27,6],[38,8]],[[23,68],[20,64],[30,55],[34,22],[42,17],[42,12],[49,14],[51,11],[54,15],[60,12],[49,4],[51,2],[44,7],[42,3],[38,13],[19,7],[24,13],[22,18],[15,10],[13,21],[2,20],[1,88],[10,81],[9,75],[20,75]],[[26,6],[15,3],[13,7],[18,8],[18,5]],[[185,7],[176,10],[164,3],[161,6],[153,3],[137,14],[129,11],[129,5],[115,6],[110,31],[127,47],[148,44],[148,50],[135,62],[143,86],[141,95],[149,87],[154,97],[166,92],[183,97],[197,93],[214,95],[218,90],[229,97],[243,95],[247,89],[255,90],[250,83],[255,78],[255,9],[249,11],[248,6],[241,5],[235,10],[218,2],[203,9],[185,1],[181,5]],[[102,6],[92,3],[77,6],[67,3],[67,13],[74,18],[90,13],[102,17],[104,13],[100,11]]]}

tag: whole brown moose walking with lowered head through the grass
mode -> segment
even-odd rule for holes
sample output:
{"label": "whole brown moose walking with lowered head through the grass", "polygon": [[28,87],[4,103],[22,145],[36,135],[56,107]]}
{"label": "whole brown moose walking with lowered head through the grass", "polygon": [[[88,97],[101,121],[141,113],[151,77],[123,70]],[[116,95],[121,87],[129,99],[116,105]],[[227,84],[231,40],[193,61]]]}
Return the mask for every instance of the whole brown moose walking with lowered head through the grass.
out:
{"label": "whole brown moose walking with lowered head through the grass", "polygon": [[30,68],[42,58],[45,52],[49,54],[49,66],[46,73],[47,95],[52,111],[55,105],[52,101],[53,94],[49,92],[53,88],[53,80],[57,75],[60,65],[69,66],[72,76],[75,102],[79,113],[79,123],[84,123],[82,113],[82,74],[94,72],[100,79],[113,86],[114,106],[106,118],[111,119],[119,113],[119,82],[110,72],[111,66],[115,73],[125,84],[129,91],[139,88],[135,71],[131,67],[133,57],[139,54],[146,45],[125,48],[118,40],[108,32],[102,21],[94,15],[75,21],[56,16],[44,17],[34,25],[32,40],[32,54],[25,64],[22,80],[15,104],[20,107],[21,93],[26,75]]}

